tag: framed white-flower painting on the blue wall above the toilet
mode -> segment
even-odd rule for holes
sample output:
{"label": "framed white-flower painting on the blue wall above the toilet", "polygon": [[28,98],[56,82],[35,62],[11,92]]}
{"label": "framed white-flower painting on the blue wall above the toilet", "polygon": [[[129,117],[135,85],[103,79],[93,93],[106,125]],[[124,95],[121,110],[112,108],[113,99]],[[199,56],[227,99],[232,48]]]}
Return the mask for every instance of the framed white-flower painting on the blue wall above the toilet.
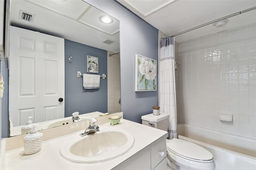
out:
{"label": "framed white-flower painting on the blue wall above the toilet", "polygon": [[135,55],[135,91],[156,91],[156,60]]}

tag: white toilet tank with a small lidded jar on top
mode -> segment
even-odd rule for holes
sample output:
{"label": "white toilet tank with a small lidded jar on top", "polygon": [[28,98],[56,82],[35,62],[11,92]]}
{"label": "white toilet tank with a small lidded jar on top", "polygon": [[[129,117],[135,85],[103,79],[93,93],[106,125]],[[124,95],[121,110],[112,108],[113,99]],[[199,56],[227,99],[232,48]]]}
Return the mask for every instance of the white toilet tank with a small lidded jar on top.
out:
{"label": "white toilet tank with a small lidded jar on top", "polygon": [[168,130],[169,114],[160,112],[160,115],[153,115],[153,113],[141,117],[142,125],[158,128],[164,131]]}

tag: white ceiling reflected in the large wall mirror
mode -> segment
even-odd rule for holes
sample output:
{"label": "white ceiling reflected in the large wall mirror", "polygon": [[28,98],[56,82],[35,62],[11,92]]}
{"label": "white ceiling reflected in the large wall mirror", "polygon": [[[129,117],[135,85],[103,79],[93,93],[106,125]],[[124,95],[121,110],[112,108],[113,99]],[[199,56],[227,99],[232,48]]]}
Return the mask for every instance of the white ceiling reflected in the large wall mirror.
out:
{"label": "white ceiling reflected in the large wall mirror", "polygon": [[[34,15],[33,22],[19,19],[20,10]],[[12,0],[14,26],[51,34],[112,52],[120,52],[119,21],[100,22],[106,13],[82,0]],[[114,43],[103,43],[112,40]]]}

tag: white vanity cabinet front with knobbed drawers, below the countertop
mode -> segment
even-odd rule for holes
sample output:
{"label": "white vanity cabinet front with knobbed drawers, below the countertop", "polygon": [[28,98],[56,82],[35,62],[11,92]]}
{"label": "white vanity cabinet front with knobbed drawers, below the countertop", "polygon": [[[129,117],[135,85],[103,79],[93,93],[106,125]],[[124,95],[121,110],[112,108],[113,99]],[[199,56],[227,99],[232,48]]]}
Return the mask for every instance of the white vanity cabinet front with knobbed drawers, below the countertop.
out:
{"label": "white vanity cabinet front with knobbed drawers, below the countertop", "polygon": [[112,170],[166,170],[166,136],[152,142]]}

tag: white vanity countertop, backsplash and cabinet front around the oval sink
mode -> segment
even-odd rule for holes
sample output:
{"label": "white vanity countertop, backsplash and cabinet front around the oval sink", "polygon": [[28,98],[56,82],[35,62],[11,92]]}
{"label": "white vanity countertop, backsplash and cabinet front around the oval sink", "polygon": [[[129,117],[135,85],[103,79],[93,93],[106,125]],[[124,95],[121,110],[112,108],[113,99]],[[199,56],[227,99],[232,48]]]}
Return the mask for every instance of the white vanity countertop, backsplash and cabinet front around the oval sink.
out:
{"label": "white vanity countertop, backsplash and cabinet front around the oval sink", "polygon": [[[127,130],[134,137],[132,148],[117,158],[100,163],[86,164],[72,162],[61,156],[60,144],[70,140],[71,135],[77,134],[79,136],[81,132],[84,132],[84,129],[89,126],[88,120],[42,130],[41,132],[44,134],[42,150],[32,155],[23,154],[23,138],[26,134],[3,139],[0,169],[166,170],[166,138],[168,133],[164,130],[151,128],[125,119],[121,120],[120,125],[111,126],[108,118],[113,115],[123,116],[122,113],[115,113],[98,117],[99,127],[102,130],[104,128]],[[42,160],[47,164],[42,164]],[[38,164],[41,166],[38,166]]]}

